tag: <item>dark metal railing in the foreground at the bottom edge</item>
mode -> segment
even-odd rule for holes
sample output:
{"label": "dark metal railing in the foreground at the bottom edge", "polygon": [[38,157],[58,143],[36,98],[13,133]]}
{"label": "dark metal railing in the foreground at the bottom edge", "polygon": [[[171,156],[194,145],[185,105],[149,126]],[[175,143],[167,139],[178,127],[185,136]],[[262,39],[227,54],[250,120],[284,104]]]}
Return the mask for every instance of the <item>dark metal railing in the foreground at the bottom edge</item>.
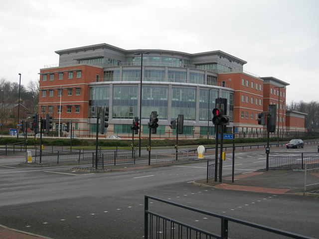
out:
{"label": "dark metal railing in the foreground at the bottom edge", "polygon": [[[310,239],[306,236],[209,213],[171,201],[150,196],[145,196],[144,199],[144,238],[148,239],[256,238],[259,230],[262,231],[264,238],[276,238],[282,235],[288,238]],[[194,225],[194,217],[205,218],[205,220],[199,220]],[[229,224],[231,227],[228,227]],[[240,236],[237,230],[241,230]]]}

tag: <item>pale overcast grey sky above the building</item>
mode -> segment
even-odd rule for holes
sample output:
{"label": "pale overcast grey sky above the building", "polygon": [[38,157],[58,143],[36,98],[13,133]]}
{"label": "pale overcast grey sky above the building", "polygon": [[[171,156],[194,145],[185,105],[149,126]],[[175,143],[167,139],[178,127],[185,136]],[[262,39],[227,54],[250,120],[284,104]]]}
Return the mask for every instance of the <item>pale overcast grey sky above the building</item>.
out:
{"label": "pale overcast grey sky above the building", "polygon": [[26,86],[56,50],[221,50],[244,70],[290,84],[287,102],[319,101],[319,0],[1,0],[0,78]]}

